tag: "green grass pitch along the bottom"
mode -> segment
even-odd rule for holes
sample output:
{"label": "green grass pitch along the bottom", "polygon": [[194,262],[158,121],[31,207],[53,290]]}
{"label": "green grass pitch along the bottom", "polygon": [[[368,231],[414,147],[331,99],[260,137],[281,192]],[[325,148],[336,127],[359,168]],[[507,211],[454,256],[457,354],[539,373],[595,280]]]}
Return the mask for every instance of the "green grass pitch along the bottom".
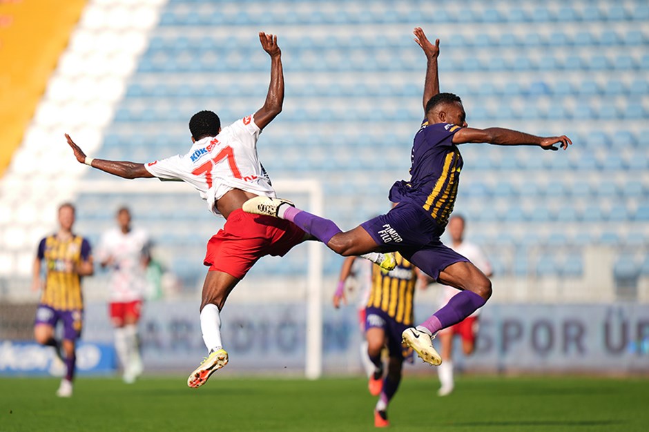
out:
{"label": "green grass pitch along the bottom", "polygon": [[[58,381],[0,378],[0,431],[372,431],[375,397],[361,378],[213,376],[200,389],[184,377],[80,377],[75,395]],[[406,376],[389,408],[396,431],[649,431],[649,380],[586,377]]]}

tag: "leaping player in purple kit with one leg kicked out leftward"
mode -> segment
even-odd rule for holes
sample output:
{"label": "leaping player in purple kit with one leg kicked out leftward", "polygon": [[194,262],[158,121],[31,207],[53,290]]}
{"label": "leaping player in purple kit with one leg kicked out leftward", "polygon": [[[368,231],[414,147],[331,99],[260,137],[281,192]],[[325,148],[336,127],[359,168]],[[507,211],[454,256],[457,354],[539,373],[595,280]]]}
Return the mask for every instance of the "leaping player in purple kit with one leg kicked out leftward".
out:
{"label": "leaping player in purple kit with one leg kicked out leftward", "polygon": [[427,363],[442,362],[432,338],[442,328],[461,322],[487,302],[490,280],[468,259],[440,242],[453,210],[463,166],[459,144],[487,143],[498,146],[539,146],[543,150],[565,150],[572,141],[565,135],[536,137],[504,128],[468,128],[461,99],[439,92],[437,57],[439,39],[432,44],[421,28],[414,29],[416,43],[427,59],[424,86],[425,120],[414,137],[410,180],[397,181],[389,199],[398,203],[386,215],[370,219],[345,233],[331,220],[295,208],[285,199],[255,197],[244,211],[287,219],[320,239],[340,255],[371,251],[398,251],[405,259],[440,284],[461,293],[425,322],[407,328],[403,343],[411,346]]}

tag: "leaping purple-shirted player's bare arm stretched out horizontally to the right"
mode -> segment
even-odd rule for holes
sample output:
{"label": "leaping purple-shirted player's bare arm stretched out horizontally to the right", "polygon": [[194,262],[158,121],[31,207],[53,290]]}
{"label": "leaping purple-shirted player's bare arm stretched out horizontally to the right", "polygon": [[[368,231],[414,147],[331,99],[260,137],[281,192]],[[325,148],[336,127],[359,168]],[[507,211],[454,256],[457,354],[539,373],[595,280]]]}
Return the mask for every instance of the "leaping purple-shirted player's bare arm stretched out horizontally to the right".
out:
{"label": "leaping purple-shirted player's bare arm stretched out horizontally to the right", "polygon": [[474,129],[463,128],[453,135],[454,144],[465,143],[487,143],[497,146],[539,146],[543,150],[559,150],[554,144],[558,144],[563,150],[572,145],[570,138],[565,135],[559,137],[537,137],[518,130],[504,128]]}

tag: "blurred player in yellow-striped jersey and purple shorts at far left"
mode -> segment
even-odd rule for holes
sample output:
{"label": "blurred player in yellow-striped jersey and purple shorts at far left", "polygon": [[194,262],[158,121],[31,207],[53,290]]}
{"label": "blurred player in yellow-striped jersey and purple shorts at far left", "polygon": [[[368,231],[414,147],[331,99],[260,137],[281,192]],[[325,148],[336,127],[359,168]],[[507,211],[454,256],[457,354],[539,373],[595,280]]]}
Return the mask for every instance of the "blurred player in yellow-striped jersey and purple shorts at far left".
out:
{"label": "blurred player in yellow-striped jersey and purple shorts at far left", "polygon": [[[42,290],[36,311],[34,336],[36,342],[52,346],[65,362],[66,374],[57,396],[72,396],[75,377],[76,341],[81,337],[84,319],[84,299],[81,277],[94,273],[90,243],[75,233],[75,207],[70,203],[59,206],[59,230],[41,239],[33,267],[32,288]],[[41,279],[41,263],[45,262],[45,280]],[[63,340],[56,339],[56,326],[63,323]],[[61,348],[63,353],[61,355]]]}

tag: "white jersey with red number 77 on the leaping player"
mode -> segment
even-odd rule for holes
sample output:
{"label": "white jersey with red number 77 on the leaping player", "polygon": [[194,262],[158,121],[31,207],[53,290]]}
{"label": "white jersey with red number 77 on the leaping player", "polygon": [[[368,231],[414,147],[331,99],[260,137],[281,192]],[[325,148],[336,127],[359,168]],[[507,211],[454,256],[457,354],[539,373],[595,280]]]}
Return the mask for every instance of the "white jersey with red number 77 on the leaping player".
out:
{"label": "white jersey with red number 77 on the leaping player", "polygon": [[226,126],[216,137],[196,141],[185,155],[153,161],[145,167],[161,180],[191,184],[207,201],[209,210],[220,215],[214,204],[232,189],[277,196],[257,155],[260,133],[249,115]]}

